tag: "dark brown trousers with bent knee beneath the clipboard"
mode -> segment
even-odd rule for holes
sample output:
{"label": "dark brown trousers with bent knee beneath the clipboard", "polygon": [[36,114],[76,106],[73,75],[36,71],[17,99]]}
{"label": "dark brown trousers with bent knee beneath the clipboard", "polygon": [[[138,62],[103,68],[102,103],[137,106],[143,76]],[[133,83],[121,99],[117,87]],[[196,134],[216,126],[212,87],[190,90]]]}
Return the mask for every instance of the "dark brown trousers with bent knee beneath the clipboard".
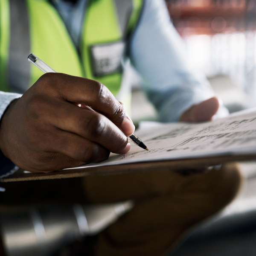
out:
{"label": "dark brown trousers with bent knee beneath the clipboard", "polygon": [[[81,248],[79,255],[88,255],[90,247],[96,256],[159,256],[175,248],[191,227],[229,204],[239,192],[241,181],[239,166],[227,164],[189,174],[155,170],[6,183],[7,192],[0,194],[0,200],[8,206],[100,204],[131,199],[134,208],[96,236],[92,244],[76,247]],[[78,254],[71,251],[70,255]]]}

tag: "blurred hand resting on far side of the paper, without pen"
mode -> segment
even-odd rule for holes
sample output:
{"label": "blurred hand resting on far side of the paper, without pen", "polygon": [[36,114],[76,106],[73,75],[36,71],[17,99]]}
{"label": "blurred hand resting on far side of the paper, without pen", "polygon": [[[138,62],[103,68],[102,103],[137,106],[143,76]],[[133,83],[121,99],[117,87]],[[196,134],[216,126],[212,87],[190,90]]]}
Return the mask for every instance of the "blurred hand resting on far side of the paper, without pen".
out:
{"label": "blurred hand resting on far side of the paper, without pen", "polygon": [[212,120],[217,113],[220,103],[216,97],[207,99],[185,111],[181,117],[182,122],[204,122]]}

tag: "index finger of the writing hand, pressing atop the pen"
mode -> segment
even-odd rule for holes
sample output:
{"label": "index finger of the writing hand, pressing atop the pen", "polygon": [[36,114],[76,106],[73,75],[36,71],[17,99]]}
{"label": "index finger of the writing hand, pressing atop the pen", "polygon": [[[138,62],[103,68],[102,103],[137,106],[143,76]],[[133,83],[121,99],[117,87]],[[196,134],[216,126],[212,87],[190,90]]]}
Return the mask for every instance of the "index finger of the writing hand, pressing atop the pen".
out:
{"label": "index finger of the writing hand, pressing atop the pen", "polygon": [[126,136],[134,133],[135,127],[123,106],[108,88],[91,79],[61,73],[47,73],[49,83],[53,83],[58,94],[70,102],[88,105],[108,117]]}

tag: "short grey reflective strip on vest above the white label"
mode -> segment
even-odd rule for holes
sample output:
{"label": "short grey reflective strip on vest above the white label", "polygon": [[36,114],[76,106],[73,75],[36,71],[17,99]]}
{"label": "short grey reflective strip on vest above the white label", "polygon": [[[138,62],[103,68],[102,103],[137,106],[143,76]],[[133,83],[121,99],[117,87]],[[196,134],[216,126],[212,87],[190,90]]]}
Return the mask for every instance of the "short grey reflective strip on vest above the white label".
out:
{"label": "short grey reflective strip on vest above the white label", "polygon": [[127,35],[128,23],[133,10],[133,0],[115,0],[116,14],[123,37]]}

